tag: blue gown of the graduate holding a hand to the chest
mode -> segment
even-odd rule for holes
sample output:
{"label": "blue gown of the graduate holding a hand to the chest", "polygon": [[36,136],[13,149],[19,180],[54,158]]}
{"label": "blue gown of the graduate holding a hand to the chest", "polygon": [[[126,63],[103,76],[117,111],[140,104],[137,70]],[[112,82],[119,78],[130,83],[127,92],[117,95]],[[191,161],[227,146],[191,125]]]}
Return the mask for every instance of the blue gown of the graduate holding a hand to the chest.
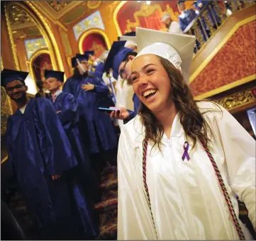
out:
{"label": "blue gown of the graduate holding a hand to the chest", "polygon": [[[88,82],[94,84],[94,90],[82,90],[81,86]],[[90,153],[95,154],[116,148],[117,138],[111,118],[97,110],[97,107],[101,107],[104,101],[108,100],[109,90],[104,81],[96,76],[87,78],[72,76],[67,79],[62,90],[74,95],[77,101],[79,129],[89,140],[87,143]]]}

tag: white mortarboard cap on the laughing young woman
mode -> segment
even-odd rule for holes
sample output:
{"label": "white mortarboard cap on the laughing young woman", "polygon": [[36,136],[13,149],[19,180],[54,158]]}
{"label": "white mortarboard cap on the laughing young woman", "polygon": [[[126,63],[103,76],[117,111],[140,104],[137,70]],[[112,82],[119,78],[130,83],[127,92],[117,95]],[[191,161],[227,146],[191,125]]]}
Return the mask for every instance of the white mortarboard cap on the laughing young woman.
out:
{"label": "white mortarboard cap on the laughing young woman", "polygon": [[145,54],[155,54],[167,59],[182,71],[184,80],[189,83],[195,41],[194,35],[174,34],[137,27],[138,55],[135,59]]}

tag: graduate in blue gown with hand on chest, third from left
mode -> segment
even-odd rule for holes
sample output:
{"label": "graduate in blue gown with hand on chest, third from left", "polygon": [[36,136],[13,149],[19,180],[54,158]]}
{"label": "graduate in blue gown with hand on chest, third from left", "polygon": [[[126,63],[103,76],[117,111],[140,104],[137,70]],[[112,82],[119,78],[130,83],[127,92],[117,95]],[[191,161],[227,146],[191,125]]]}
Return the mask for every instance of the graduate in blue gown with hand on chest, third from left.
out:
{"label": "graduate in blue gown with hand on chest, third from left", "polygon": [[96,155],[94,164],[102,161],[106,151],[116,150],[117,138],[111,118],[97,110],[110,106],[106,106],[109,90],[102,78],[88,75],[88,58],[86,54],[77,54],[73,59],[74,75],[65,82],[63,92],[74,95],[79,110],[79,130],[87,139],[90,154]]}

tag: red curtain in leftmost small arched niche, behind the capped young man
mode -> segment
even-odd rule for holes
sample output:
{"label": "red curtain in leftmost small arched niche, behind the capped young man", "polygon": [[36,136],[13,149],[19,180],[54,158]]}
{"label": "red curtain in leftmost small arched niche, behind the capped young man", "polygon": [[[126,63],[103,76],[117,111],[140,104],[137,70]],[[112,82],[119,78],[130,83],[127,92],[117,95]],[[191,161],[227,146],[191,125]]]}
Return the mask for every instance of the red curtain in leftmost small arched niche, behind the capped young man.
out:
{"label": "red curtain in leftmost small arched niche, behind the capped young man", "polygon": [[33,71],[35,74],[35,81],[40,81],[44,78],[45,69],[52,69],[52,61],[49,54],[40,54],[33,61]]}

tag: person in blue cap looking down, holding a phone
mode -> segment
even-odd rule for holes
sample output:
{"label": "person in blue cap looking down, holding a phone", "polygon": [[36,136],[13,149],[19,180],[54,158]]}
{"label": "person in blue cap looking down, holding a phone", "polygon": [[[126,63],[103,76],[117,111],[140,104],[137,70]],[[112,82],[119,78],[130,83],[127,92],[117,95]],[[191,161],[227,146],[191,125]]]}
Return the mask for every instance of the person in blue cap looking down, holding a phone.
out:
{"label": "person in blue cap looking down, holding a phone", "polygon": [[[116,41],[113,42],[111,46],[108,57],[106,58],[106,64],[104,71],[113,69],[113,78],[118,78],[120,74],[121,78],[129,81],[131,74],[131,63],[137,52],[134,52],[133,49],[124,47],[126,41]],[[124,122],[128,122],[130,119],[133,119],[138,113],[138,107],[140,105],[140,100],[137,95],[133,95],[134,110],[127,110],[124,107],[120,108],[120,111],[111,112],[111,117],[116,119],[123,119]]]}

